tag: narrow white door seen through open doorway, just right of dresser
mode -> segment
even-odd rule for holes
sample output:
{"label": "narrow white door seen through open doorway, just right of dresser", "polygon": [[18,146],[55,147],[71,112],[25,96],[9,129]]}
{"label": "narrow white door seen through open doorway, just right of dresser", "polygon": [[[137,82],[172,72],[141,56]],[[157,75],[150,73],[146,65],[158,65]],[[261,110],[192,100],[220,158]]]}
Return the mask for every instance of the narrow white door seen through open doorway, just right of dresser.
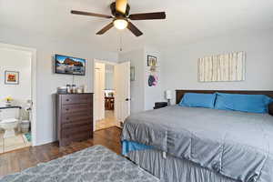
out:
{"label": "narrow white door seen through open doorway, just right of dresser", "polygon": [[95,64],[95,121],[104,119],[105,116],[105,83],[106,65]]}

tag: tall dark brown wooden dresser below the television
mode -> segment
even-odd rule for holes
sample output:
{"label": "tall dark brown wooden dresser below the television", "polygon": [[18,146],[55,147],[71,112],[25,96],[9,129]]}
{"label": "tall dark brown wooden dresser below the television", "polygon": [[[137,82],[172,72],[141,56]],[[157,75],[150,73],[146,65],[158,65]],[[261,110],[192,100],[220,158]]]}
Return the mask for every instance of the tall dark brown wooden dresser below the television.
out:
{"label": "tall dark brown wooden dresser below the television", "polygon": [[56,94],[59,146],[93,137],[93,94]]}

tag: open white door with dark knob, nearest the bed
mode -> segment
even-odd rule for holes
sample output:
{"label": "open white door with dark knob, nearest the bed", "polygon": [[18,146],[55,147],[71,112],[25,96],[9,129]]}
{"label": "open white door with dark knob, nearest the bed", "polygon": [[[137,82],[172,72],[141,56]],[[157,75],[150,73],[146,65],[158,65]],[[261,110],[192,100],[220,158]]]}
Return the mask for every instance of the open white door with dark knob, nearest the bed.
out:
{"label": "open white door with dark knob, nearest the bed", "polygon": [[130,115],[130,62],[118,64],[114,69],[115,116],[124,122]]}

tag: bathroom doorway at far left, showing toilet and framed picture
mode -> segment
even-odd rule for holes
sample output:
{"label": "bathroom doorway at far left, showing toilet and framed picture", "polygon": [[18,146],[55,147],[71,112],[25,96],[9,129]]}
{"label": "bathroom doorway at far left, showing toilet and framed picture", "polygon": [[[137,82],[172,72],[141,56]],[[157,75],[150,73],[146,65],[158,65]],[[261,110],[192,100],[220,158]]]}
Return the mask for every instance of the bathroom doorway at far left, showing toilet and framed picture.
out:
{"label": "bathroom doorway at far left, showing toilet and framed picture", "polygon": [[35,52],[0,43],[0,153],[35,146]]}

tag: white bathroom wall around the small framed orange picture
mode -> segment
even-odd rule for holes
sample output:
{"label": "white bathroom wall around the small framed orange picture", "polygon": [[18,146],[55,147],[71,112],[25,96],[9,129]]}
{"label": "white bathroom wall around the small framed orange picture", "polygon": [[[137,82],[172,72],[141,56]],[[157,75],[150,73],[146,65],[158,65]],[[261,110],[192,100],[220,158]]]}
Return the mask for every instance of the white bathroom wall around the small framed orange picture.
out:
{"label": "white bathroom wall around the small framed orange picture", "polygon": [[[13,105],[25,107],[26,100],[31,99],[31,54],[0,48],[0,56],[0,104],[5,105],[5,97],[12,96]],[[19,85],[5,85],[5,71],[19,72]],[[25,112],[22,114],[28,119]]]}

